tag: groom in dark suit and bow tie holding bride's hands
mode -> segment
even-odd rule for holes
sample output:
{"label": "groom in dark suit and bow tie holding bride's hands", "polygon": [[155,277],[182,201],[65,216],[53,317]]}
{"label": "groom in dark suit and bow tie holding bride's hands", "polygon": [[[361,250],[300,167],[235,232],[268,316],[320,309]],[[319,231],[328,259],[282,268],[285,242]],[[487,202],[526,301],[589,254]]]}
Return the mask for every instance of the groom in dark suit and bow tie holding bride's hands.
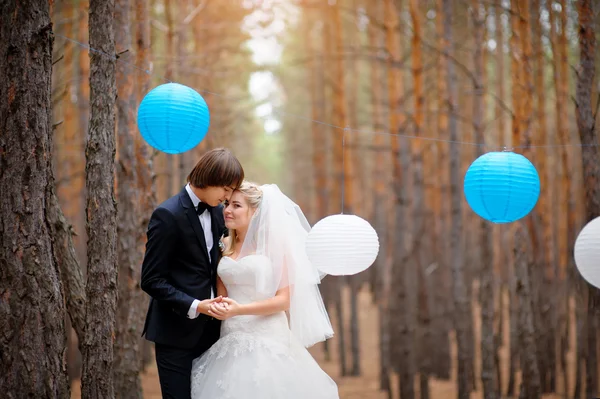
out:
{"label": "groom in dark suit and bow tie holding bride's hands", "polygon": [[142,335],[155,343],[163,398],[190,398],[192,360],[219,339],[220,322],[208,316],[217,292],[218,242],[226,234],[221,202],[244,180],[228,150],[205,153],[188,184],[152,213],[142,264],[150,306]]}

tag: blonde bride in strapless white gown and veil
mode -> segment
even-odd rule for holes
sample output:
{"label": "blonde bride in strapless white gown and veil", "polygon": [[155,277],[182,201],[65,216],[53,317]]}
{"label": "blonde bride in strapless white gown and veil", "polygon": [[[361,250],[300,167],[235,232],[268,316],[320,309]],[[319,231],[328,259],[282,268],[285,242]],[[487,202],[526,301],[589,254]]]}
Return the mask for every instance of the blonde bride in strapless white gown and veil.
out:
{"label": "blonde bride in strapless white gown and veil", "polygon": [[217,270],[221,338],[192,366],[193,399],[337,399],[306,347],[333,336],[308,260],[310,230],[276,185],[244,182],[224,210],[229,228]]}

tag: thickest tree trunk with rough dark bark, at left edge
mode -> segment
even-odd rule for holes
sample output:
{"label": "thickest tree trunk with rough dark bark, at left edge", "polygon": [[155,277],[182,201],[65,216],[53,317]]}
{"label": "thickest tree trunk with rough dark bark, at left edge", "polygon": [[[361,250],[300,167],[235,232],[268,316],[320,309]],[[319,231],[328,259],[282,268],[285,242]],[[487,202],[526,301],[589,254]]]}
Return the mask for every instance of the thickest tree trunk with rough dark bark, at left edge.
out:
{"label": "thickest tree trunk with rough dark bark, at left edge", "polygon": [[52,24],[47,1],[0,5],[0,392],[70,396],[65,305],[48,209]]}

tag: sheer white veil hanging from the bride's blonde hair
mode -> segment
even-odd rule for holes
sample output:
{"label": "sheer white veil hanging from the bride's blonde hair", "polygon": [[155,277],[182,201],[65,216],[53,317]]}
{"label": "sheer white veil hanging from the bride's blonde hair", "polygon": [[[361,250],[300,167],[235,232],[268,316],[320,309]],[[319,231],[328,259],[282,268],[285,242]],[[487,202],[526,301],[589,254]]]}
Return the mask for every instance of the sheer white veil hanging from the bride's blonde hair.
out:
{"label": "sheer white veil hanging from the bride's blonde hair", "polygon": [[275,184],[260,186],[262,201],[254,213],[239,257],[257,254],[270,260],[271,270],[256,273],[257,293],[270,298],[290,287],[290,329],[305,346],[333,337],[319,292],[324,274],[306,254],[311,227],[302,210]]}

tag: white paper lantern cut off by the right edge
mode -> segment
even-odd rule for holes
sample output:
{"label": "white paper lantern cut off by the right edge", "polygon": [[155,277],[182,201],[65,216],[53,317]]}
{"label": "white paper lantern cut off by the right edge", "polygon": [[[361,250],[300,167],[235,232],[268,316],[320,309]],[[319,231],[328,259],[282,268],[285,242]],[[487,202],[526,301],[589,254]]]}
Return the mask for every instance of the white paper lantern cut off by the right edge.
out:
{"label": "white paper lantern cut off by the right edge", "polygon": [[600,217],[589,222],[577,236],[575,264],[588,283],[600,288]]}

